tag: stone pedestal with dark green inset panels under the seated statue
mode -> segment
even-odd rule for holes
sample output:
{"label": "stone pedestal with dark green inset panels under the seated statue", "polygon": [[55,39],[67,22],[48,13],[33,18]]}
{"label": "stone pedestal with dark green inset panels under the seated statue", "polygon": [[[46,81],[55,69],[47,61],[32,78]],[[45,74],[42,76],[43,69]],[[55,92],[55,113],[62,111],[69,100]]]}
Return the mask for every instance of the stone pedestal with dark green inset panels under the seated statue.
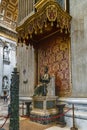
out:
{"label": "stone pedestal with dark green inset panels under the seated statue", "polygon": [[33,109],[30,113],[30,119],[41,124],[55,122],[55,116],[58,114],[56,100],[57,96],[33,97]]}

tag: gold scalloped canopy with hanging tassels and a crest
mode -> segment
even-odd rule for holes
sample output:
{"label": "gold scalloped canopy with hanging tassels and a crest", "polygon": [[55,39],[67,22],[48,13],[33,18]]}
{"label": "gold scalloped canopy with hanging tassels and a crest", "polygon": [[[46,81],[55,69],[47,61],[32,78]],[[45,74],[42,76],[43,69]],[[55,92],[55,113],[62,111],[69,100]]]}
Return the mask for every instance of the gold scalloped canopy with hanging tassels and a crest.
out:
{"label": "gold scalloped canopy with hanging tassels and a crest", "polygon": [[19,34],[19,41],[22,39],[26,43],[28,42],[26,39],[29,40],[31,38],[34,41],[39,41],[40,37],[35,39],[37,36],[40,34],[46,34],[47,32],[49,33],[49,31],[54,28],[54,31],[58,31],[60,33],[70,33],[71,16],[62,10],[57,1],[38,1],[35,8],[36,12],[27,18],[27,20],[16,29]]}

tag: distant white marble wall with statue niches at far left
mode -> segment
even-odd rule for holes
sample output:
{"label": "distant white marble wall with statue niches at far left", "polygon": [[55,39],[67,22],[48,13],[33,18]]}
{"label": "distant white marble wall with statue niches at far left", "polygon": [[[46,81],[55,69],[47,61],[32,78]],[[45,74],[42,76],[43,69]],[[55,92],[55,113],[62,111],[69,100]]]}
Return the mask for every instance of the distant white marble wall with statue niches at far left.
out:
{"label": "distant white marble wall with statue niches at far left", "polygon": [[[8,46],[9,60],[4,58],[4,46]],[[10,92],[11,74],[16,66],[16,42],[0,36],[0,96],[3,96],[3,91]],[[7,88],[3,88],[3,77],[8,77]]]}

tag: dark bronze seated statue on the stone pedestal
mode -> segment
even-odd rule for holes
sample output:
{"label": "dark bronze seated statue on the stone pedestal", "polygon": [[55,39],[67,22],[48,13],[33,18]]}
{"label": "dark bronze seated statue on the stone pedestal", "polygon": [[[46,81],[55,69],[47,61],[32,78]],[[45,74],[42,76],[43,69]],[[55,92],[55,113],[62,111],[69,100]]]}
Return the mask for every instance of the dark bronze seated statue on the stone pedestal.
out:
{"label": "dark bronze seated statue on the stone pedestal", "polygon": [[47,84],[50,82],[50,75],[48,74],[48,67],[44,68],[44,75],[40,75],[40,84],[35,87],[34,96],[46,96],[47,95]]}

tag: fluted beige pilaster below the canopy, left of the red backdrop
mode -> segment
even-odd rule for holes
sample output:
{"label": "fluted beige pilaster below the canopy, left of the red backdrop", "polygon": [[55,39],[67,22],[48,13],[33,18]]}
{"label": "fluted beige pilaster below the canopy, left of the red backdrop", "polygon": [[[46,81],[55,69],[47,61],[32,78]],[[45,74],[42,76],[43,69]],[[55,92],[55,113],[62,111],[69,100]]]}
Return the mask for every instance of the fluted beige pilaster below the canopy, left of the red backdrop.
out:
{"label": "fluted beige pilaster below the canopy, left of the red backdrop", "polygon": [[17,46],[17,67],[20,76],[19,95],[29,97],[34,93],[36,81],[36,59],[33,46]]}

